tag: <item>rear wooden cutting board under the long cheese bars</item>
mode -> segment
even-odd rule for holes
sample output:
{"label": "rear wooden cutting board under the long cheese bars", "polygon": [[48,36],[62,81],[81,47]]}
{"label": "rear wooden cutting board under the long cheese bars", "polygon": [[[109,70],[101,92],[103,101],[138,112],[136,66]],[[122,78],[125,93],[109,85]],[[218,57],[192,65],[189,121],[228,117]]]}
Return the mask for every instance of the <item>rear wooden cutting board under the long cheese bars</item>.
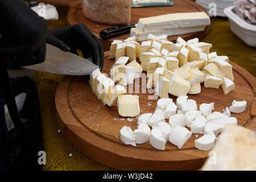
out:
{"label": "rear wooden cutting board under the long cheese bars", "polygon": [[[170,14],[170,13],[188,13],[188,12],[199,12],[205,11],[208,14],[207,10],[205,10],[202,6],[198,5],[194,1],[191,0],[173,0],[173,6],[158,6],[158,7],[137,7],[131,9],[131,24],[138,23],[139,18],[145,18],[148,16],[156,16],[156,15],[163,15],[163,14]],[[104,30],[105,28],[113,27],[108,24],[100,24],[97,22],[93,22],[85,18],[82,14],[82,9],[71,8],[68,12],[68,22],[69,24],[77,24],[77,23],[84,23],[90,31],[93,32],[98,38],[100,38],[100,31]],[[192,32],[183,35],[177,36],[169,36],[168,40],[176,41],[178,36],[185,40],[189,40],[192,38],[199,38],[202,40],[207,36],[210,27],[206,26],[204,31],[200,32]],[[111,39],[101,39],[101,42],[104,44],[104,48],[109,50],[110,44],[113,42],[114,39],[117,40],[125,40],[130,37],[130,33],[119,35],[117,37]]]}

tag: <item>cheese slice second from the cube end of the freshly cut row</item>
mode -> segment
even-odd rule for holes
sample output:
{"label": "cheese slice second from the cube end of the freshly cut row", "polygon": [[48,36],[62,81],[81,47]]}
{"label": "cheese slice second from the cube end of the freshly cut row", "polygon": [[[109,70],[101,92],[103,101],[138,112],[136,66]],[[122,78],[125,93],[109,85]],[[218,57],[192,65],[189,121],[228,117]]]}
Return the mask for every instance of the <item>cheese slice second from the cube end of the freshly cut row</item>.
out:
{"label": "cheese slice second from the cube end of the freshly cut row", "polygon": [[[110,78],[106,78],[104,81],[101,82],[101,101],[103,105],[106,104],[106,100],[109,97],[110,90],[113,90],[114,82]],[[98,90],[100,93],[100,91]]]}

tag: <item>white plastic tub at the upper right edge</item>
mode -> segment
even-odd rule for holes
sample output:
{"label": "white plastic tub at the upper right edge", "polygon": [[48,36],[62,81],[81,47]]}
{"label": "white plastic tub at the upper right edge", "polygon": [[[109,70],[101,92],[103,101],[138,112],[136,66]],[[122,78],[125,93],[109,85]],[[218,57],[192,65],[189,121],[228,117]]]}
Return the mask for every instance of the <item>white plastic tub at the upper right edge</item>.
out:
{"label": "white plastic tub at the upper right edge", "polygon": [[256,26],[245,22],[232,12],[233,6],[224,9],[224,14],[229,18],[231,31],[248,46],[256,47]]}

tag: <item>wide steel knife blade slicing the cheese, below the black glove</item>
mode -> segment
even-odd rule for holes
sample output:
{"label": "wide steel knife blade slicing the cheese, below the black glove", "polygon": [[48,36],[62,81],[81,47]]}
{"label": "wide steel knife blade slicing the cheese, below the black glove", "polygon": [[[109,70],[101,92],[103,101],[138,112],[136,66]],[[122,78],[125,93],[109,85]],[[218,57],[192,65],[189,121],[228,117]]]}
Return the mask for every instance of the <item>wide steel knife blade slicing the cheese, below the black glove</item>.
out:
{"label": "wide steel knife blade slicing the cheese, below the black glove", "polygon": [[57,73],[61,75],[89,75],[99,68],[91,61],[77,56],[71,52],[46,44],[46,60],[40,64],[34,64],[23,68]]}

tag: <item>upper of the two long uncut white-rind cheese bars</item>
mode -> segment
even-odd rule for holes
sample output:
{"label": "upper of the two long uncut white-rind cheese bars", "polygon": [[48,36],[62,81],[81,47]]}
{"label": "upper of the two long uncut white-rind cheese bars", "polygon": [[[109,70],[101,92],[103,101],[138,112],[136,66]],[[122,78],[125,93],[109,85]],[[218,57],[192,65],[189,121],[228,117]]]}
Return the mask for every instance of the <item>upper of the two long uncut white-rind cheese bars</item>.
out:
{"label": "upper of the two long uncut white-rind cheese bars", "polygon": [[137,28],[140,31],[146,32],[157,29],[206,26],[209,24],[209,16],[202,11],[197,13],[173,13],[140,18]]}

